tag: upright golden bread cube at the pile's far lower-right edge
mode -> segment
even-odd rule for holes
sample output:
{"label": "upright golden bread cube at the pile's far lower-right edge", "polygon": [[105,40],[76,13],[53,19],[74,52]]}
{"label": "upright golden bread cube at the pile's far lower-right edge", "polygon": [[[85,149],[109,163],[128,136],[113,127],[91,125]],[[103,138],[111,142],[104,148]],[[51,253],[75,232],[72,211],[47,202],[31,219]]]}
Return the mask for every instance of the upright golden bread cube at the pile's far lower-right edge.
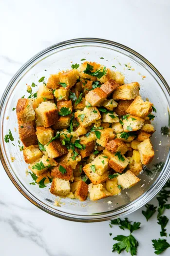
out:
{"label": "upright golden bread cube at the pile's far lower-right edge", "polygon": [[141,162],[143,164],[150,163],[152,158],[154,157],[154,150],[151,144],[151,140],[149,138],[145,139],[137,146],[137,149],[140,153]]}

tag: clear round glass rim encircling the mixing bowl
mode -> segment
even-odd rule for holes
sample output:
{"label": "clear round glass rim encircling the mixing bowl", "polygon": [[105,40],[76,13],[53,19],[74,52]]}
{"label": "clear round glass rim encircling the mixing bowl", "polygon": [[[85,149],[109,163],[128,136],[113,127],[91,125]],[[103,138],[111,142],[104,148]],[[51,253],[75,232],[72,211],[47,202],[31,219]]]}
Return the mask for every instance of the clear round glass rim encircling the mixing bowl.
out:
{"label": "clear round glass rim encircling the mixing bowl", "polygon": [[[15,83],[15,81],[19,78],[19,76],[36,60],[38,60],[39,58],[43,57],[45,54],[52,52],[55,49],[59,49],[59,48],[63,48],[64,46],[71,46],[71,45],[76,45],[82,43],[82,44],[86,44],[86,43],[95,43],[95,44],[103,44],[103,46],[105,45],[107,46],[114,46],[116,48],[122,49],[127,53],[132,54],[133,56],[139,58],[141,61],[143,61],[150,69],[151,71],[153,71],[155,73],[155,75],[161,80],[161,82],[164,84],[164,87],[166,88],[168,95],[169,95],[169,101],[170,101],[170,87],[168,85],[168,83],[166,82],[166,80],[163,78],[163,76],[160,74],[160,72],[147,60],[145,59],[143,56],[141,56],[139,53],[135,52],[134,50],[132,50],[131,48],[122,45],[120,43],[111,41],[111,40],[106,40],[106,39],[98,39],[98,38],[79,38],[79,39],[71,39],[71,40],[66,40],[66,41],[62,41],[59,42],[57,44],[54,44],[50,47],[47,47],[46,49],[42,50],[41,52],[39,52],[37,55],[35,55],[33,58],[31,58],[30,60],[28,60],[20,69],[19,71],[14,75],[14,77],[10,80],[10,82],[8,83],[1,99],[0,99],[0,124],[2,123],[2,113],[3,113],[3,109],[4,109],[4,105],[5,105],[5,99],[7,98],[9,91],[11,89],[11,87],[13,86],[13,84]],[[0,125],[1,126],[1,125]],[[2,126],[1,126],[2,127]],[[1,138],[2,138],[2,129],[1,129]],[[151,187],[149,188],[148,191],[146,191],[144,194],[142,194],[140,197],[138,197],[137,199],[135,199],[134,201],[132,201],[131,203],[129,203],[128,205],[125,205],[123,207],[121,207],[120,209],[117,210],[113,210],[110,211],[109,213],[107,212],[106,214],[99,214],[99,215],[91,215],[91,216],[83,216],[83,215],[76,215],[76,214],[68,214],[68,213],[64,213],[61,211],[57,212],[57,209],[52,210],[50,208],[49,205],[41,202],[38,198],[35,198],[21,183],[19,184],[19,182],[16,180],[16,178],[14,177],[14,175],[12,174],[12,172],[8,169],[7,164],[5,162],[5,158],[3,157],[3,151],[2,151],[2,147],[3,144],[0,141],[0,160],[2,162],[2,165],[6,171],[6,174],[8,175],[8,177],[11,179],[12,183],[15,185],[15,187],[19,190],[19,192],[26,197],[31,203],[33,203],[34,205],[36,205],[38,208],[40,208],[41,210],[62,218],[62,219],[66,219],[66,220],[71,220],[71,221],[77,221],[77,222],[96,222],[96,221],[105,221],[105,220],[110,220],[110,219],[114,219],[117,217],[122,217],[125,216],[127,214],[130,214],[134,211],[136,211],[137,209],[139,209],[140,207],[142,207],[143,205],[145,205],[148,201],[151,200],[151,198],[153,198],[160,190],[161,188],[164,186],[164,184],[166,183],[166,181],[168,180],[168,178],[170,177],[170,152],[168,155],[168,158],[166,160],[165,166],[164,166],[164,170],[160,173],[159,177],[157,177],[157,179],[155,180],[155,182],[151,185]]]}

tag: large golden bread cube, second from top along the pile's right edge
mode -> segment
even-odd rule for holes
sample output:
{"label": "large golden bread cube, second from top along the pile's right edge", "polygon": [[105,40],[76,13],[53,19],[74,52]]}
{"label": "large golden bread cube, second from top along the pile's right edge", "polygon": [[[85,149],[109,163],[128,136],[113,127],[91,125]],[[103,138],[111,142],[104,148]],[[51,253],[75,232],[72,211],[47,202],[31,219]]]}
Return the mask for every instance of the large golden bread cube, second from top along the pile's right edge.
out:
{"label": "large golden bread cube, second from top along the pile's right edge", "polygon": [[137,96],[126,111],[133,116],[146,118],[152,111],[152,105],[151,102],[144,101],[141,96]]}

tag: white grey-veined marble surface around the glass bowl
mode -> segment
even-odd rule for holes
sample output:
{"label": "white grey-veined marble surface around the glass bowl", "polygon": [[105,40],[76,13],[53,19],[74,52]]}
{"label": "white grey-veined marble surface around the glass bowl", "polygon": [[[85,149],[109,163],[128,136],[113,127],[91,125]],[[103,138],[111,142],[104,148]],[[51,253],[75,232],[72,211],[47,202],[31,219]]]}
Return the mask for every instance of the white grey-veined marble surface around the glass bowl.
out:
{"label": "white grey-veined marble surface around the glass bowl", "polygon": [[[111,39],[131,47],[170,83],[169,0],[0,0],[0,95],[37,52],[81,37]],[[151,202],[156,205],[156,198]],[[146,222],[141,211],[128,216],[141,221],[141,230],[134,234],[138,256],[153,256],[151,239],[159,238],[160,226],[156,215]],[[170,217],[170,210],[166,215]],[[112,256],[109,233],[128,234],[116,226],[111,229],[108,221],[75,223],[46,214],[19,193],[0,163],[0,256]],[[170,237],[167,240],[170,243]],[[163,255],[169,256],[170,248]]]}

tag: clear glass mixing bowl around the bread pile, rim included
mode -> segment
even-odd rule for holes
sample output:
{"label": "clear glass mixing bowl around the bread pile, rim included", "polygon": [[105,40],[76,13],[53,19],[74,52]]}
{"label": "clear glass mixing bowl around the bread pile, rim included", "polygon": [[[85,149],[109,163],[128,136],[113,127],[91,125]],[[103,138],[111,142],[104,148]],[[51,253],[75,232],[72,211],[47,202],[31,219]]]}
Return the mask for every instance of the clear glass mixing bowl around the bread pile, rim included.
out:
{"label": "clear glass mixing bowl around the bread pile, rim included", "polygon": [[[101,59],[102,58],[102,59]],[[104,58],[104,59],[103,59]],[[33,186],[30,175],[26,175],[27,164],[19,150],[18,123],[16,111],[12,111],[23,95],[27,98],[26,84],[38,83],[41,77],[48,78],[59,70],[70,69],[72,63],[81,59],[96,61],[125,75],[125,82],[138,81],[140,94],[149,98],[157,110],[153,121],[156,129],[151,137],[155,157],[147,169],[139,175],[141,181],[121,195],[92,202],[69,198],[57,198],[50,194],[48,185],[40,189]],[[36,87],[33,88],[36,91]],[[57,43],[30,59],[11,79],[0,101],[0,159],[13,184],[20,193],[40,209],[68,220],[93,222],[124,216],[132,213],[154,197],[170,177],[170,141],[162,135],[161,127],[169,126],[170,88],[144,57],[119,43],[104,39],[73,39]],[[9,117],[9,118],[7,118]],[[14,144],[5,143],[4,136],[11,130]],[[55,206],[55,199],[60,207]],[[108,204],[111,201],[111,204]]]}

